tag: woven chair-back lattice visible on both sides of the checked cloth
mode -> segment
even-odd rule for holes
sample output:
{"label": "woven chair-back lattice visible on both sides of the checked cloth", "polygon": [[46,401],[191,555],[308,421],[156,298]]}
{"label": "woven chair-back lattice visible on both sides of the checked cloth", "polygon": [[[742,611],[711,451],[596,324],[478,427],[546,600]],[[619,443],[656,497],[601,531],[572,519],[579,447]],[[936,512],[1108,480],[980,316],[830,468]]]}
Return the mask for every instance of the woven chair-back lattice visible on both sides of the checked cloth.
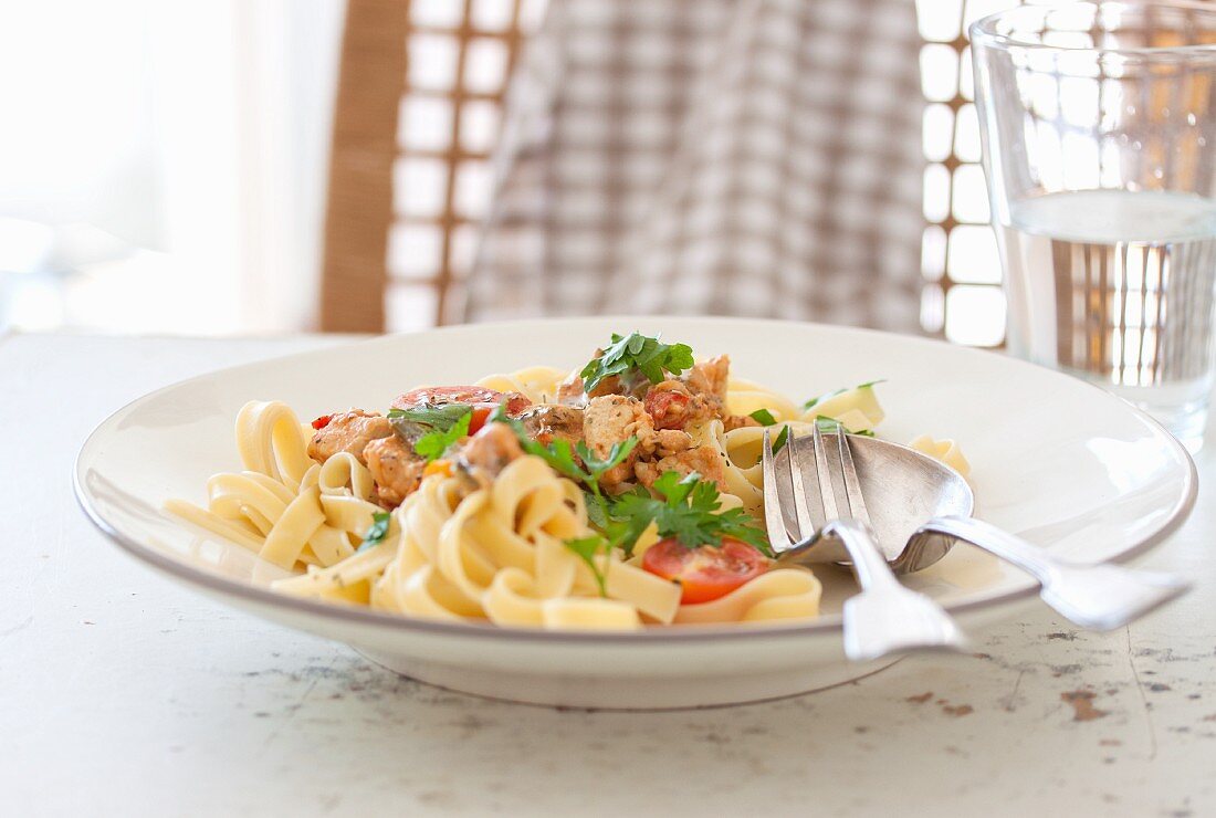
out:
{"label": "woven chair-back lattice visible on both sides of the checked cloth", "polygon": [[[394,176],[387,326],[432,326],[468,271],[490,191],[506,77],[547,0],[410,0]],[[970,345],[1003,340],[967,26],[1017,0],[917,0],[927,107],[922,325]]]}

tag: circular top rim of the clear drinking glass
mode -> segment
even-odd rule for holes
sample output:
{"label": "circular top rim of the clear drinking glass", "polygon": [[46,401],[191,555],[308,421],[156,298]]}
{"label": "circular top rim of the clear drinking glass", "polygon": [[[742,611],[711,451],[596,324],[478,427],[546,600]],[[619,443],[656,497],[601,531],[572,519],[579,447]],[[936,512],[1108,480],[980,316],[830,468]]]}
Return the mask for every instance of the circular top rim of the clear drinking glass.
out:
{"label": "circular top rim of the clear drinking glass", "polygon": [[1094,13],[1100,13],[1104,6],[1124,6],[1124,7],[1149,7],[1155,6],[1162,10],[1176,9],[1188,12],[1195,12],[1199,16],[1210,17],[1212,21],[1212,32],[1216,32],[1216,4],[1214,2],[1195,2],[1193,0],[1088,0],[1086,2],[1058,2],[1052,5],[1024,5],[1017,6],[1014,9],[1006,9],[1004,11],[998,11],[996,13],[981,17],[967,27],[968,39],[972,46],[983,46],[985,49],[995,50],[1014,50],[1021,49],[1026,51],[1040,51],[1046,53],[1073,53],[1073,55],[1093,55],[1099,60],[1107,60],[1108,57],[1115,60],[1126,61],[1161,61],[1161,62],[1177,62],[1180,60],[1195,60],[1203,58],[1206,61],[1216,61],[1216,43],[1203,44],[1203,45],[1178,45],[1178,46],[1137,46],[1137,47],[1125,47],[1125,49],[1102,49],[1102,47],[1087,47],[1087,46],[1069,46],[1069,45],[1049,45],[1042,41],[1036,41],[1026,39],[1024,35],[1017,33],[1014,29],[1012,33],[1003,33],[997,29],[997,26],[1010,18],[1020,17],[1034,17],[1034,18],[1046,18],[1053,12],[1062,12],[1068,9],[1079,9],[1082,6],[1091,6],[1094,9]]}

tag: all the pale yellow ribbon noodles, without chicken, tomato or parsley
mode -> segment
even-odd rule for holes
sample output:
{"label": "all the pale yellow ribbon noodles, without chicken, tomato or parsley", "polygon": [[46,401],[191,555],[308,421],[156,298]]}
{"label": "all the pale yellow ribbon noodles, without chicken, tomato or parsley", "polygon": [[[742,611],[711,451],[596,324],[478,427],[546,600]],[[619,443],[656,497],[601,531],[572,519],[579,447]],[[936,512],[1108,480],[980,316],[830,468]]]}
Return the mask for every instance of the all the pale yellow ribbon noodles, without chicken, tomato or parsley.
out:
{"label": "all the pale yellow ribbon noodles, without chicken, tomato or parsley", "polygon": [[[489,376],[478,387],[519,393],[545,407],[557,402],[568,379],[562,369],[535,366]],[[822,414],[854,431],[873,429],[883,419],[869,387],[831,395],[810,408],[734,378],[726,382],[725,395],[732,418],[764,410],[794,436],[810,434]],[[359,419],[383,421],[370,413]],[[677,582],[643,568],[647,551],[659,542],[653,521],[629,555],[620,548],[591,557],[576,553],[567,543],[595,535],[587,495],[533,453],[514,457],[491,480],[428,469],[385,513],[371,455],[310,456],[313,429],[287,405],[250,401],[237,414],[235,431],[242,469],[207,481],[206,507],[182,500],[165,507],[297,571],[274,582],[286,594],[410,617],[562,630],[818,615],[821,586],[804,568],[771,568],[709,602],[682,603]],[[762,514],[764,428],[748,422],[727,429],[715,417],[689,425],[687,434],[693,447],[720,459],[719,513],[743,508]],[[966,468],[953,441],[921,438],[913,446]]]}

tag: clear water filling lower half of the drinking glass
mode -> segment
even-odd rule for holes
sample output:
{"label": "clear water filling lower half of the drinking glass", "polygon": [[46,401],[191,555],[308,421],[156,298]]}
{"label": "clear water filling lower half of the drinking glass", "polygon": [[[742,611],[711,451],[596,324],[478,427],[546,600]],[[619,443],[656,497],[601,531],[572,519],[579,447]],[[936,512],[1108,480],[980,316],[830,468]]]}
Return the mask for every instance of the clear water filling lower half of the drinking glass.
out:
{"label": "clear water filling lower half of the drinking glass", "polygon": [[1010,351],[1099,383],[1180,439],[1212,388],[1216,202],[1076,191],[1014,202],[998,230]]}

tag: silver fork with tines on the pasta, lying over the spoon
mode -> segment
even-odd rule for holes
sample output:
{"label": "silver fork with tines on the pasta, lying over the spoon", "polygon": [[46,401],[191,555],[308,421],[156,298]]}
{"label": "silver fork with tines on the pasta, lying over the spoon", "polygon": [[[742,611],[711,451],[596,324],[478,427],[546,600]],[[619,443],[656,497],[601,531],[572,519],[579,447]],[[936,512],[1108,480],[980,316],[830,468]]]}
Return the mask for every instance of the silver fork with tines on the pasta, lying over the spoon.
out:
{"label": "silver fork with tines on the pasta, lying over the spoon", "polygon": [[[839,431],[835,434],[845,489],[845,514],[841,515],[818,423],[812,424],[812,430],[815,481],[823,506],[823,520],[818,526],[811,517],[805,489],[810,476],[806,457],[800,450],[805,447],[806,439],[795,440],[790,435],[786,442],[792,487],[787,493],[777,480],[778,458],[772,452],[769,430],[764,431],[765,526],[773,551],[779,555],[826,536],[844,543],[862,588],[844,604],[844,651],[849,659],[863,661],[917,649],[962,649],[966,639],[953,620],[924,594],[900,585],[876,545],[846,436]],[[787,528],[782,510],[790,504],[798,523],[796,536]]]}

